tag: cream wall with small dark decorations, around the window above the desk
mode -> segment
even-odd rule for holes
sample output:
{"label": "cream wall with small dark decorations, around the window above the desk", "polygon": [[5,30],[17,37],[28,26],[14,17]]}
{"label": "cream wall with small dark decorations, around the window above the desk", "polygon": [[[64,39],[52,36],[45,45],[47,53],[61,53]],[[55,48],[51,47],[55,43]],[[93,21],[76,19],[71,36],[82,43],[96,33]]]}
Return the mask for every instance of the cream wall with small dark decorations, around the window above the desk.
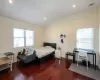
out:
{"label": "cream wall with small dark decorations, around the window above the desk", "polygon": [[[80,28],[94,28],[94,50],[97,54],[97,64],[98,64],[98,54],[99,54],[99,39],[98,39],[98,8],[91,8],[83,12],[67,16],[62,18],[55,23],[49,25],[46,28],[46,38],[47,42],[55,42],[60,46],[60,34],[66,34],[65,43],[62,45],[63,54],[65,57],[65,52],[72,51],[76,47],[76,32]],[[92,63],[92,56],[89,56],[89,60]]]}

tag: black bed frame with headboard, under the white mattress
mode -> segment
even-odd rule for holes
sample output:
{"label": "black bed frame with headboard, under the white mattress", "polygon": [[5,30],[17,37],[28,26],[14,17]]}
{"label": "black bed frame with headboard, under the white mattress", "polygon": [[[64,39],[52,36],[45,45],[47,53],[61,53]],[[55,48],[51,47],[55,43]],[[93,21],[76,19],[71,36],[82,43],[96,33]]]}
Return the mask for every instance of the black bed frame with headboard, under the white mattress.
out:
{"label": "black bed frame with headboard, under the white mattress", "polygon": [[[52,48],[56,49],[56,43],[47,43],[47,42],[44,42],[43,43],[43,46],[51,46]],[[55,52],[52,52],[51,54],[48,54],[42,58],[38,58],[38,62],[40,64],[48,61],[48,60],[51,60],[51,59],[54,59],[55,58]]]}

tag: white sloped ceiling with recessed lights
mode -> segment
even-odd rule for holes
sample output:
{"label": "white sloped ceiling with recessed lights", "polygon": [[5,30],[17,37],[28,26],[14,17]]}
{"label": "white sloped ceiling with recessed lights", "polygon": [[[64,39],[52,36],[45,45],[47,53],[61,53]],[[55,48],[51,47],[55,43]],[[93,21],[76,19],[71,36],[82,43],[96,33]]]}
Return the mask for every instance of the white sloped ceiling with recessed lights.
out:
{"label": "white sloped ceiling with recessed lights", "polygon": [[[95,5],[100,0],[0,0],[0,15],[24,20],[33,24],[47,24],[62,16],[68,16]],[[75,4],[76,8],[72,5]],[[44,17],[47,20],[44,20]]]}

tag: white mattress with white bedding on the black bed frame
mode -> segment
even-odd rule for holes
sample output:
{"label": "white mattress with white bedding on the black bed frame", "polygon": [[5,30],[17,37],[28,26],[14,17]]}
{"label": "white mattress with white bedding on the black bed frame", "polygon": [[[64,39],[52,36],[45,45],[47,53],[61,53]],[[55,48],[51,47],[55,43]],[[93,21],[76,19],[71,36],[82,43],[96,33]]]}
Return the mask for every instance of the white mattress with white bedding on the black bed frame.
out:
{"label": "white mattress with white bedding on the black bed frame", "polygon": [[41,48],[34,49],[34,50],[36,51],[36,55],[38,58],[44,57],[55,51],[55,49],[52,47],[41,47]]}

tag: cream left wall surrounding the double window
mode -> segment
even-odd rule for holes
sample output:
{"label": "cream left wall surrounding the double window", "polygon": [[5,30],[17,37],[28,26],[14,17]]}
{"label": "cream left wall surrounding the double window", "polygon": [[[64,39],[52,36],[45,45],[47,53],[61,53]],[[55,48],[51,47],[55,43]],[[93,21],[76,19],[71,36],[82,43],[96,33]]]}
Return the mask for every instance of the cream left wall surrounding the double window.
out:
{"label": "cream left wall surrounding the double window", "polygon": [[19,20],[13,20],[0,16],[0,56],[4,56],[4,52],[12,51],[15,53],[15,61],[17,52],[22,48],[13,48],[13,28],[27,29],[34,31],[34,46],[41,47],[44,42],[44,27],[33,25]]}

